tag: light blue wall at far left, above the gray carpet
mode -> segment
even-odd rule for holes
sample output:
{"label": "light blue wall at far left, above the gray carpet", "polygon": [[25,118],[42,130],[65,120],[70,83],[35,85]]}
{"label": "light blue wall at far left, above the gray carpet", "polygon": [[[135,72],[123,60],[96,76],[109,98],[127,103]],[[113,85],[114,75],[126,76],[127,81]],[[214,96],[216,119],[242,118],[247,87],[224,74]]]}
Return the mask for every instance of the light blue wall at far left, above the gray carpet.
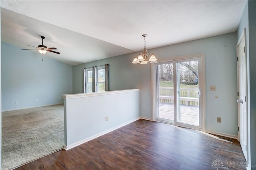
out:
{"label": "light blue wall at far left, above the gray carpet", "polygon": [[46,56],[2,42],[2,110],[63,103],[72,93],[72,66]]}

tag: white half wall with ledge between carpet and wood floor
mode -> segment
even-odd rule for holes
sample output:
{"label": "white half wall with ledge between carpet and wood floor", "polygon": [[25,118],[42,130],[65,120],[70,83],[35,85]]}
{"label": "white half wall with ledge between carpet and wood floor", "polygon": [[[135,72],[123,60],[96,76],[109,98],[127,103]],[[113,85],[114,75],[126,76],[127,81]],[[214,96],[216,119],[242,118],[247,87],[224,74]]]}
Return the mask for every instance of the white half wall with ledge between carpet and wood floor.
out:
{"label": "white half wall with ledge between carpet and wood floor", "polygon": [[140,119],[140,89],[64,94],[65,150]]}

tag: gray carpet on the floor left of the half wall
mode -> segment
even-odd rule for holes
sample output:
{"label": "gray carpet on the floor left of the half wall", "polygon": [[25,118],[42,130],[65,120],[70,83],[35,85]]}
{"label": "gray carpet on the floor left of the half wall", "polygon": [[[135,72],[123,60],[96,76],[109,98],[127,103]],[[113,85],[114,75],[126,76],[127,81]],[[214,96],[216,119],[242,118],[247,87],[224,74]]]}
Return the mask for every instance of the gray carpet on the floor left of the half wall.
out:
{"label": "gray carpet on the floor left of the half wall", "polygon": [[64,146],[63,105],[2,112],[2,170]]}

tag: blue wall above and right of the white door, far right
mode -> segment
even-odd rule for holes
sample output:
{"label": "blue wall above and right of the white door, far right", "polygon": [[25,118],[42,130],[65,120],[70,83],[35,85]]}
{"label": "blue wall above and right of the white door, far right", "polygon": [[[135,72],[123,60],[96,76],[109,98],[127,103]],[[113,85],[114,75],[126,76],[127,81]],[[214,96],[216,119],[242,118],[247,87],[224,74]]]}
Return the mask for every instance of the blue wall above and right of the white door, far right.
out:
{"label": "blue wall above and right of the white door, far right", "polygon": [[237,30],[237,40],[246,28],[247,90],[248,90],[248,162],[256,165],[256,2],[248,1]]}

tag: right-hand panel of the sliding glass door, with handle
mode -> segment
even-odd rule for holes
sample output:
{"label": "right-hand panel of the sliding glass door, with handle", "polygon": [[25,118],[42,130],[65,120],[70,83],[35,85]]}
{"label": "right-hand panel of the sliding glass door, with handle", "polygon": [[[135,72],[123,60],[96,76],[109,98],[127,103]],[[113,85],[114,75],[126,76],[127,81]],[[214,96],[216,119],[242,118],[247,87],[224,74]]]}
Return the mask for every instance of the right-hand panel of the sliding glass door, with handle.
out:
{"label": "right-hand panel of the sliding glass door, with handle", "polygon": [[180,124],[199,126],[200,84],[198,60],[176,62],[177,119]]}

